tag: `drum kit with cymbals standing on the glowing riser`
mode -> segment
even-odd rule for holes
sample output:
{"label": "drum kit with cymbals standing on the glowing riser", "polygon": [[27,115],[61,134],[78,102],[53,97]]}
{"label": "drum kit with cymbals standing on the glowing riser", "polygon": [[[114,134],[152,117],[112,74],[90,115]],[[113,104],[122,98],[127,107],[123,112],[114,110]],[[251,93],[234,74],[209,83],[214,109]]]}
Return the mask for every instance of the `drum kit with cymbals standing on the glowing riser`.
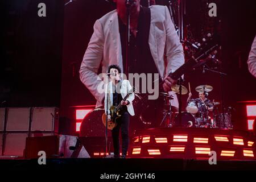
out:
{"label": "drum kit with cymbals standing on the glowing riser", "polygon": [[[179,93],[179,85],[173,85],[172,91]],[[187,94],[188,89],[185,86],[181,85],[181,94]],[[197,92],[211,92],[213,87],[210,85],[199,85],[195,88]],[[189,92],[191,92],[189,84]],[[201,101],[201,102],[199,102]],[[182,127],[205,127],[205,128],[219,128],[219,129],[233,129],[231,117],[232,109],[228,110],[226,113],[219,113],[218,106],[221,103],[218,101],[211,102],[212,111],[209,111],[208,104],[205,104],[204,101],[200,98],[192,99],[188,101],[187,106],[185,107],[186,111],[173,112],[175,117],[171,119],[171,124],[168,127],[180,126],[180,117],[181,117],[181,126]],[[205,107],[205,109],[199,109],[200,107]],[[212,118],[210,117],[212,116]]]}

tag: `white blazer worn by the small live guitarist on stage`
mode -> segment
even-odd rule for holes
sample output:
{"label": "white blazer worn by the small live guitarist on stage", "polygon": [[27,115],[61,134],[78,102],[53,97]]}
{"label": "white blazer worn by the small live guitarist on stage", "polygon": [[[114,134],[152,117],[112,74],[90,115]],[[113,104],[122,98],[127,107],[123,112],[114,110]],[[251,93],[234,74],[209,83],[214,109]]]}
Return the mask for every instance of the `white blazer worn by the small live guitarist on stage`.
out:
{"label": "white blazer worn by the small live guitarist on stage", "polygon": [[[112,82],[109,82],[106,86],[106,89],[105,89],[105,101],[104,101],[104,108],[105,108],[105,113],[107,114],[107,103],[108,103],[108,114],[110,114],[110,106],[113,105],[113,89],[112,89]],[[120,89],[120,93],[121,93],[121,96],[122,98],[124,98],[127,93],[132,89],[131,87],[131,84],[128,80],[123,80],[122,81],[122,85],[121,85],[121,89]],[[109,93],[109,94],[108,94]],[[109,97],[107,97],[107,95]],[[127,111],[130,115],[135,115],[134,113],[134,109],[133,109],[133,100],[134,100],[134,93],[130,94],[129,97],[127,97],[127,101],[130,102],[129,105],[126,105],[127,106]],[[108,102],[107,102],[108,101]]]}

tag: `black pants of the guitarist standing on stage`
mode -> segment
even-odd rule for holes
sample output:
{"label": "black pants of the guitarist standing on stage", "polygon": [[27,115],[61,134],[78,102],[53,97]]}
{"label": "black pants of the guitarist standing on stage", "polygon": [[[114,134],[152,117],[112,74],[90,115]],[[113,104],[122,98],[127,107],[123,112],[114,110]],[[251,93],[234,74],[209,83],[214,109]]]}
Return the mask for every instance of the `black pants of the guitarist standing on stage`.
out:
{"label": "black pants of the guitarist standing on stage", "polygon": [[121,117],[117,119],[117,126],[112,130],[112,139],[114,146],[114,155],[119,156],[119,130],[121,128],[121,136],[122,136],[122,155],[126,156],[128,145],[129,145],[129,122],[130,122],[130,114],[125,111]]}

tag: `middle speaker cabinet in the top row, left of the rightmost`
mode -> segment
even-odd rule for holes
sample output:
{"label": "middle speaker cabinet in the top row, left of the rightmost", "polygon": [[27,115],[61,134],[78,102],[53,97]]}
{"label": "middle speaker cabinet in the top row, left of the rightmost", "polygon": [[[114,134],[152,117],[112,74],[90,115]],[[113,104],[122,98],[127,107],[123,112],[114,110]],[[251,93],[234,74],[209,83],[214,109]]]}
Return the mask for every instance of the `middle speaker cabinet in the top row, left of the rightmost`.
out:
{"label": "middle speaker cabinet in the top row, left of the rightmost", "polygon": [[30,107],[9,108],[6,131],[28,131],[30,124]]}

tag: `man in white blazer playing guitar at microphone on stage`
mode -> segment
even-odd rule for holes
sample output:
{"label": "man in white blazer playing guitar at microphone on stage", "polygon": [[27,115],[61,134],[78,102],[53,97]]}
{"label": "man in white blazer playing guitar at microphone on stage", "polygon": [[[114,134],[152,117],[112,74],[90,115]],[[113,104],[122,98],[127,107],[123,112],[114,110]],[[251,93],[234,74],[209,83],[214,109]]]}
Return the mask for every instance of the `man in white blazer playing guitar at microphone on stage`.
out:
{"label": "man in white blazer playing guitar at microphone on stage", "polygon": [[[108,123],[112,123],[112,138],[114,146],[114,158],[119,158],[119,130],[121,128],[122,136],[122,156],[126,158],[129,144],[129,122],[130,115],[134,115],[133,100],[134,90],[128,80],[121,80],[119,74],[121,69],[118,65],[110,65],[108,68],[110,82],[106,86],[105,92],[105,113],[108,117]],[[107,107],[108,105],[108,107]],[[105,117],[102,116],[104,122]],[[106,120],[105,120],[106,121]]]}

